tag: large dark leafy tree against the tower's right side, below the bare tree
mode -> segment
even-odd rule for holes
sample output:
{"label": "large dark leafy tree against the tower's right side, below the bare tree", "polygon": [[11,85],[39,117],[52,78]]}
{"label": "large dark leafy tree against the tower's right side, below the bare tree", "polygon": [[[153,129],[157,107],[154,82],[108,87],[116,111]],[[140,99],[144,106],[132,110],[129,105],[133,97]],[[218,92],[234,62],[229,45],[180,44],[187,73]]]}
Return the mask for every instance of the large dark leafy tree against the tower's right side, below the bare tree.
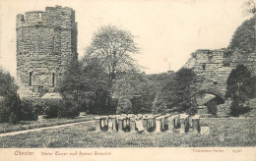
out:
{"label": "large dark leafy tree against the tower's right side, below the bare tree", "polygon": [[98,59],[85,56],[79,65],[71,66],[67,71],[59,91],[64,102],[73,107],[74,112],[105,114],[109,113],[106,108],[106,98],[110,92],[108,83],[107,75]]}

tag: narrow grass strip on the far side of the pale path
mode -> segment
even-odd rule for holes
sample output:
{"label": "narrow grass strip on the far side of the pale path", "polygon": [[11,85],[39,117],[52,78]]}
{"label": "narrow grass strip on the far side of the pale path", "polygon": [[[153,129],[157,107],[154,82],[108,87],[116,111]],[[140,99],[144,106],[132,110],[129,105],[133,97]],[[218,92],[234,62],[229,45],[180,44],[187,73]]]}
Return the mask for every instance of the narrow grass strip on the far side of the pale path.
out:
{"label": "narrow grass strip on the far side of the pale path", "polygon": [[47,122],[25,121],[25,122],[20,122],[18,124],[1,123],[0,134],[31,130],[31,129],[43,128],[43,127],[52,127],[52,126],[69,124],[69,123],[77,123],[77,122],[83,122],[83,121],[93,120],[93,119],[94,119],[94,116],[88,116],[85,118],[76,118],[76,119],[47,119]]}

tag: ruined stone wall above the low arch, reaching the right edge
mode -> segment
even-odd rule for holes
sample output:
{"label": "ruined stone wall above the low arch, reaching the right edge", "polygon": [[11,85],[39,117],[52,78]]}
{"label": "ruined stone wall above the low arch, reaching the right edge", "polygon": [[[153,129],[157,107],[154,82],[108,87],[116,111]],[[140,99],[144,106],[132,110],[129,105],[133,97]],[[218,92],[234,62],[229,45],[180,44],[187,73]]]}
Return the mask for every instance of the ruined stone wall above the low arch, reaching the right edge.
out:
{"label": "ruined stone wall above the low arch, reaching the right edge", "polygon": [[246,57],[239,53],[232,53],[226,57],[226,49],[197,50],[183,66],[193,69],[196,74],[196,83],[192,86],[195,91],[209,89],[224,95],[226,80],[232,69],[238,65],[246,66],[256,75],[256,53],[249,53]]}

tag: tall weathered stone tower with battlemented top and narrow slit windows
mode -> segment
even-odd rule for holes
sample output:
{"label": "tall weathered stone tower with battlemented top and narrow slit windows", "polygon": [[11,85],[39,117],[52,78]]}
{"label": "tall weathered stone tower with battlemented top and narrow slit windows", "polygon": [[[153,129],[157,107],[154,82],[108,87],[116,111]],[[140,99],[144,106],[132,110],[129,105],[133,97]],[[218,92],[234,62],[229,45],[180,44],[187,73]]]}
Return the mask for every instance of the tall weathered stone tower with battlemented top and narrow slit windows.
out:
{"label": "tall weathered stone tower with battlemented top and narrow slit windows", "polygon": [[61,6],[17,15],[17,81],[21,97],[54,92],[78,60],[75,11]]}

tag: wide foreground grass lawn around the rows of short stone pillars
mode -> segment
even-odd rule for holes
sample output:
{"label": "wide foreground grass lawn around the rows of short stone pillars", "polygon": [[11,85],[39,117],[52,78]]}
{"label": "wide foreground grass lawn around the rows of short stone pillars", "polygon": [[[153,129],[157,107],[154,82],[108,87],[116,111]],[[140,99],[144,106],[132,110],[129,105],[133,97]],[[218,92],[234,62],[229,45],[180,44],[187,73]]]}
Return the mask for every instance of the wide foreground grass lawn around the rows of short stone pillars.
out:
{"label": "wide foreground grass lawn around the rows of short stone pillars", "polygon": [[204,134],[96,133],[94,123],[0,137],[0,147],[202,147],[255,146],[254,118],[201,119]]}

